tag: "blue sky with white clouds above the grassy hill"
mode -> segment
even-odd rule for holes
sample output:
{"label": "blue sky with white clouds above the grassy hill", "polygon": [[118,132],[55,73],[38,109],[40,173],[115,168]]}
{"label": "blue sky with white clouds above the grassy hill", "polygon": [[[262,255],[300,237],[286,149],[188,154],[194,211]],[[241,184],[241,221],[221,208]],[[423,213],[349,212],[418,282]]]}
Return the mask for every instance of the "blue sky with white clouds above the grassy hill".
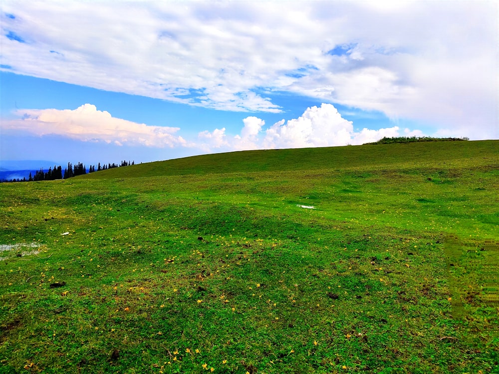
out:
{"label": "blue sky with white clouds above the grassy hill", "polygon": [[494,0],[0,6],[1,161],[499,138]]}

